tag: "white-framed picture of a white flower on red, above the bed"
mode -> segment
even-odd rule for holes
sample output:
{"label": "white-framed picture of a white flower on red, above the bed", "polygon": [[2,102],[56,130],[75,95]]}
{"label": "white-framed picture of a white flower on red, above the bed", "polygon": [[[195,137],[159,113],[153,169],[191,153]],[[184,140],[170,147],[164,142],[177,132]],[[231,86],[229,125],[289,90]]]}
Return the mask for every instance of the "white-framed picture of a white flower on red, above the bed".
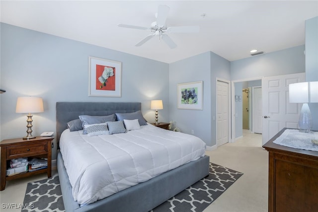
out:
{"label": "white-framed picture of a white flower on red, above the bed", "polygon": [[88,96],[121,97],[121,62],[88,57]]}

